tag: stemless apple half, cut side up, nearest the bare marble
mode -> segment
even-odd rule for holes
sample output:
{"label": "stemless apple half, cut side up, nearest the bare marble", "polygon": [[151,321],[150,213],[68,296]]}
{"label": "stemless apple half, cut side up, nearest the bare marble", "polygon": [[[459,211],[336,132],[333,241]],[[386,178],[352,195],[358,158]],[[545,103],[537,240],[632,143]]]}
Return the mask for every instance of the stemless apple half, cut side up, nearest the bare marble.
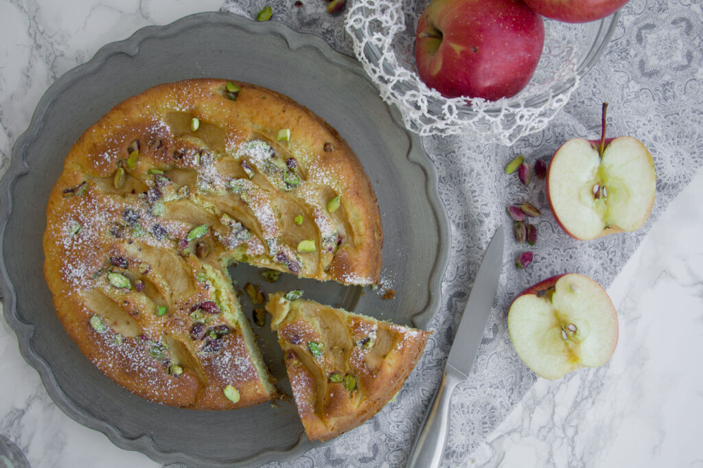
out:
{"label": "stemless apple half, cut side up, nearest the bare marble", "polygon": [[517,356],[540,377],[559,379],[607,363],[618,321],[607,292],[583,275],[548,278],[512,301],[508,333]]}

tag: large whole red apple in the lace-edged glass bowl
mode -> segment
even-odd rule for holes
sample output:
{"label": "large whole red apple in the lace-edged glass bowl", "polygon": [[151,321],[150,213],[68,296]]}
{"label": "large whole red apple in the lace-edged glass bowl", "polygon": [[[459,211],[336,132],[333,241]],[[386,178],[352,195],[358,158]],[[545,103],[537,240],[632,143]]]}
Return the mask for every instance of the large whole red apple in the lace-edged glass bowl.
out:
{"label": "large whole red apple in the lace-edged glass bowl", "polygon": [[432,0],[415,61],[420,79],[446,98],[496,100],[527,86],[543,45],[543,20],[522,0]]}

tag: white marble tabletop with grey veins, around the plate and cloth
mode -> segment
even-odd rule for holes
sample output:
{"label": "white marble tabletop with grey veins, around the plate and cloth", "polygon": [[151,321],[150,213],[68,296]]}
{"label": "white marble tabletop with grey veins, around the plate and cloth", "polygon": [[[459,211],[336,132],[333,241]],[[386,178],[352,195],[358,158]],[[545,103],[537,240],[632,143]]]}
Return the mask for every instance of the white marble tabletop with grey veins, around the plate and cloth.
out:
{"label": "white marble tabletop with grey veins, around the plate and cloth", "polygon": [[[139,27],[216,10],[221,3],[0,3],[0,175],[41,94],[57,77]],[[537,379],[486,443],[465,459],[467,466],[703,465],[700,200],[703,172],[669,205],[608,288],[620,320],[610,363],[557,382]],[[4,320],[0,376],[0,434],[21,448],[32,467],[157,466],[64,415],[20,356]]]}

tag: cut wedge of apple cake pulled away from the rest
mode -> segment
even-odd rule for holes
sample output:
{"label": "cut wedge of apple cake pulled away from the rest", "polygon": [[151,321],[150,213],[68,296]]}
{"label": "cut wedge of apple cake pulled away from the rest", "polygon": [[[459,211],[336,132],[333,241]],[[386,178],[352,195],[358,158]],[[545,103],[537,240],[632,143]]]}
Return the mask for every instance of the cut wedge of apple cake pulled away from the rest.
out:
{"label": "cut wedge of apple cake pulled away from the rest", "polygon": [[266,310],[295,404],[311,440],[359,426],[399,391],[423,353],[429,332],[271,294]]}

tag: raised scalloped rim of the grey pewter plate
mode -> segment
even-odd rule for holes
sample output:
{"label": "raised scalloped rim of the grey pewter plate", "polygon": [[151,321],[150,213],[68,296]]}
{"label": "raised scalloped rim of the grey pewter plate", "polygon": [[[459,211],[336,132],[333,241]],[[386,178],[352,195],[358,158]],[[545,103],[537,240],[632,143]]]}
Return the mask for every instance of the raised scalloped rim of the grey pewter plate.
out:
{"label": "raised scalloped rim of the grey pewter plate", "polygon": [[[11,152],[11,164],[6,174],[0,179],[0,194],[4,195],[4,200],[6,200],[6,203],[0,204],[0,288],[4,292],[5,297],[3,315],[6,323],[8,323],[9,327],[15,332],[18,338],[18,347],[22,358],[24,358],[34,370],[37,370],[41,382],[44,384],[44,388],[58,408],[79,424],[105,434],[110,442],[119,448],[124,450],[136,450],[147,455],[151,460],[164,463],[185,461],[202,464],[202,462],[205,461],[207,464],[241,466],[245,464],[294,460],[308,450],[311,450],[311,448],[328,445],[329,443],[333,443],[335,439],[331,439],[325,443],[316,443],[314,446],[301,446],[301,442],[305,440],[303,432],[300,434],[297,441],[286,450],[265,450],[252,455],[252,457],[246,460],[236,462],[219,462],[212,459],[200,460],[200,458],[195,459],[183,451],[166,452],[160,450],[155,445],[150,434],[144,432],[140,436],[130,437],[127,434],[123,434],[120,429],[111,422],[98,420],[94,415],[77,407],[75,403],[68,398],[65,391],[58,385],[49,363],[33,349],[31,341],[36,330],[36,325],[25,323],[18,316],[18,297],[5,266],[4,241],[8,222],[13,214],[13,188],[16,181],[30,171],[30,166],[26,160],[27,148],[39,137],[41,129],[44,126],[44,118],[51,110],[56,96],[58,96],[63,89],[71,86],[73,82],[91,74],[91,72],[103,66],[103,64],[115,54],[135,56],[140,51],[141,44],[145,40],[169,37],[179,31],[188,30],[193,27],[202,27],[202,25],[212,24],[213,22],[228,27],[241,28],[255,34],[276,35],[281,37],[288,45],[288,48],[292,50],[311,46],[315,48],[318,53],[321,53],[325,60],[363,77],[363,79],[366,79],[368,83],[373,85],[363,71],[361,64],[348,56],[344,56],[342,53],[334,51],[321,37],[314,34],[297,32],[282,22],[254,22],[249,18],[244,18],[240,15],[228,12],[194,13],[167,25],[148,25],[136,30],[136,32],[131,34],[127,39],[113,41],[101,46],[90,60],[65,72],[65,74],[56,79],[44,92],[37,103],[37,107],[34,109],[29,126],[27,126],[27,129],[15,140]],[[256,30],[253,29],[254,27]],[[413,134],[413,132],[409,131],[401,124],[402,120],[399,111],[394,106],[389,105],[388,110],[394,124],[408,136],[409,144],[406,158],[408,162],[415,164],[420,169],[425,178],[425,195],[439,230],[440,241],[437,244],[437,256],[435,257],[434,266],[430,271],[430,281],[427,285],[430,291],[427,306],[424,312],[417,313],[411,318],[413,324],[418,325],[420,316],[423,318],[426,317],[427,319],[423,320],[423,322],[425,322],[425,325],[429,325],[430,320],[432,320],[432,317],[439,311],[439,306],[441,305],[441,281],[444,278],[446,266],[449,262],[449,246],[451,245],[449,217],[446,212],[446,207],[444,207],[444,203],[441,202],[441,197],[439,196],[437,170],[430,158],[427,157],[422,141],[417,134]]]}

